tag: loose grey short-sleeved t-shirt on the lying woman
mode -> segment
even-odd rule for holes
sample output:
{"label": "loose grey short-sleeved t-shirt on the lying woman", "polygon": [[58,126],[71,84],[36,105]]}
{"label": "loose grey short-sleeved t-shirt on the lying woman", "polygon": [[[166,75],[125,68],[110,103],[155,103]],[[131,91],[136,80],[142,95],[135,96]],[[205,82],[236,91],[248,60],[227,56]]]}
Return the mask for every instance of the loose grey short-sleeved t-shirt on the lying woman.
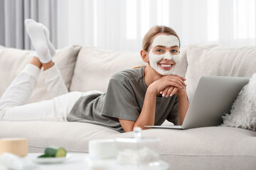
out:
{"label": "loose grey short-sleeved t-shirt on the lying woman", "polygon": [[[69,122],[93,123],[124,132],[118,118],[136,121],[142,111],[146,94],[144,67],[126,69],[114,74],[105,94],[82,96],[73,106]],[[155,125],[164,120],[178,123],[178,99],[176,95],[156,97]]]}

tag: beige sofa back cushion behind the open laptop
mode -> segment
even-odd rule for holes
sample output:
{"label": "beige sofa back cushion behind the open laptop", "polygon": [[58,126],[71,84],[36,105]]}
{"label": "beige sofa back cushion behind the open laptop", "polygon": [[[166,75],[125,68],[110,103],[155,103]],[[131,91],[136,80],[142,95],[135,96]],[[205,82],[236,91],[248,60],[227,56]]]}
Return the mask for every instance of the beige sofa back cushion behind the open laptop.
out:
{"label": "beige sofa back cushion behind the open laptop", "polygon": [[256,72],[256,47],[188,45],[186,47],[186,84],[191,101],[202,76],[252,77]]}

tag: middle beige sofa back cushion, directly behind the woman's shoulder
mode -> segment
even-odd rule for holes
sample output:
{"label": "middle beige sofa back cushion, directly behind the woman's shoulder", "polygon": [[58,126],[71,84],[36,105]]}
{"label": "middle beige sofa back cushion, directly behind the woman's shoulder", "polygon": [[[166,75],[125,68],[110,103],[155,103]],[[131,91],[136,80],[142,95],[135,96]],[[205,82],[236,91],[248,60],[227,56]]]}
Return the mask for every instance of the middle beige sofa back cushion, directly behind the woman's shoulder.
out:
{"label": "middle beige sofa back cushion, directly behind the woman's shoulder", "polygon": [[75,66],[70,91],[103,91],[115,72],[145,64],[139,52],[82,47]]}

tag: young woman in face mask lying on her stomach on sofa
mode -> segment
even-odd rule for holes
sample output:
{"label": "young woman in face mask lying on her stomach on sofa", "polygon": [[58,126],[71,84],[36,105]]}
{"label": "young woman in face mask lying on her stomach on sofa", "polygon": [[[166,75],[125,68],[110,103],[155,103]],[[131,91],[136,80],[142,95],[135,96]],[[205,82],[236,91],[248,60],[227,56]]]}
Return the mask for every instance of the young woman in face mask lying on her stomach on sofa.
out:
{"label": "young woman in face mask lying on her stomach on sofa", "polygon": [[[188,109],[185,79],[174,73],[180,40],[174,30],[155,26],[143,40],[145,67],[114,74],[107,92],[70,92],[51,60],[55,49],[41,23],[25,21],[36,50],[35,57],[18,74],[0,99],[0,120],[47,120],[93,123],[119,132],[139,126],[161,125],[164,120],[181,125]],[[43,67],[48,94],[53,99],[26,104]]]}

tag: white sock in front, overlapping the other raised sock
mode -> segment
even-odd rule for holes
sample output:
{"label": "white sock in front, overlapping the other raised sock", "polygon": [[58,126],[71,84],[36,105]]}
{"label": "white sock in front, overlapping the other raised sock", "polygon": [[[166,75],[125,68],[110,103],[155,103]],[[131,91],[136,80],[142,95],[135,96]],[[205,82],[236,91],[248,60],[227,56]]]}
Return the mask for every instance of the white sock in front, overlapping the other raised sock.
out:
{"label": "white sock in front, overlapping the other raised sock", "polygon": [[32,19],[26,19],[25,26],[32,45],[36,50],[36,57],[38,57],[42,63],[50,62],[51,55],[48,50],[48,42],[46,35],[43,33],[43,28]]}

